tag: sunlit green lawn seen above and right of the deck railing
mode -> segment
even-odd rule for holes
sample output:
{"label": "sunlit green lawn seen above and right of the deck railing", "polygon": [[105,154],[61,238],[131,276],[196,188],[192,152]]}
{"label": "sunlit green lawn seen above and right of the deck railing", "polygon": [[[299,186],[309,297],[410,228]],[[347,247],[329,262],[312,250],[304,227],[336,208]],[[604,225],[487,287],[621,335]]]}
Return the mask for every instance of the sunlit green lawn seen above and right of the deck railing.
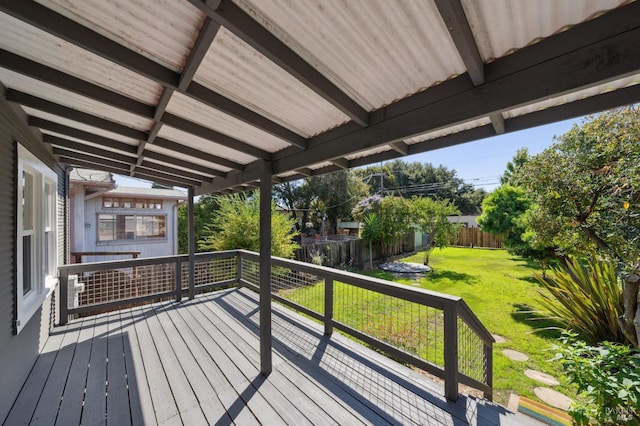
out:
{"label": "sunlit green lawn seen above and right of the deck railing", "polygon": [[[423,253],[402,259],[422,263]],[[430,265],[434,272],[418,281],[395,279],[382,271],[370,275],[462,297],[491,333],[507,339],[494,345],[494,399],[506,404],[512,392],[537,399],[533,388],[543,386],[524,375],[524,370],[543,371],[558,378],[556,390],[572,398],[575,393],[567,387],[561,367],[551,361],[550,349],[559,332],[544,330],[556,326],[540,319],[535,311],[541,288],[533,278],[539,272],[535,265],[512,256],[504,250],[484,250],[448,247],[434,250]],[[529,356],[525,362],[512,361],[502,354],[514,349]]]}

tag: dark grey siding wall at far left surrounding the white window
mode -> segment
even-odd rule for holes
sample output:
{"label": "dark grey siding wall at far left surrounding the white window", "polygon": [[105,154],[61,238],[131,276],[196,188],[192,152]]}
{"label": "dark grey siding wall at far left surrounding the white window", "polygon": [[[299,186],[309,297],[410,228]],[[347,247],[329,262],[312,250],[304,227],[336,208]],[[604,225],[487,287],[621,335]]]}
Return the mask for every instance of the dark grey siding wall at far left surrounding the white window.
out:
{"label": "dark grey siding wall at far left surrounding the white window", "polygon": [[51,327],[51,298],[22,328],[14,333],[16,286],[16,141],[36,155],[58,174],[58,263],[64,263],[65,211],[64,171],[55,166],[39,136],[27,125],[21,110],[4,98],[0,86],[0,424],[6,418],[22,384],[33,367]]}

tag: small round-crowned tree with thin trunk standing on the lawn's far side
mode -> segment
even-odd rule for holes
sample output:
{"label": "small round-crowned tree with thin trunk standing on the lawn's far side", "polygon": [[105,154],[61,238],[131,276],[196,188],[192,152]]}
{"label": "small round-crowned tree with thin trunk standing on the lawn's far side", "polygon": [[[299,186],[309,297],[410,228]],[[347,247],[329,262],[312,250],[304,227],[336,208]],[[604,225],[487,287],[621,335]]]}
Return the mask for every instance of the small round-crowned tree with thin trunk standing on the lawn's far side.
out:
{"label": "small round-crowned tree with thin trunk standing on the lawn's far side", "polygon": [[433,248],[445,248],[458,233],[459,224],[451,223],[447,216],[459,215],[460,210],[448,200],[436,201],[415,197],[411,201],[413,222],[419,230],[427,234],[424,264],[428,265]]}

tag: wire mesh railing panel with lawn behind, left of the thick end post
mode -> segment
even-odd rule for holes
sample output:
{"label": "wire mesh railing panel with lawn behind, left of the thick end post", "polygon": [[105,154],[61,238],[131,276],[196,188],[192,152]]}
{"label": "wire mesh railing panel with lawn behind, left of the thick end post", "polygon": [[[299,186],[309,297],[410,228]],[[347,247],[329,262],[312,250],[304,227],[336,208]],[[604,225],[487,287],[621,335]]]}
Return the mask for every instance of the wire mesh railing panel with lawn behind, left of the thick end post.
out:
{"label": "wire mesh railing panel with lawn behind, left of the thick end post", "polygon": [[444,317],[440,309],[340,282],[334,284],[333,300],[336,321],[444,366]]}

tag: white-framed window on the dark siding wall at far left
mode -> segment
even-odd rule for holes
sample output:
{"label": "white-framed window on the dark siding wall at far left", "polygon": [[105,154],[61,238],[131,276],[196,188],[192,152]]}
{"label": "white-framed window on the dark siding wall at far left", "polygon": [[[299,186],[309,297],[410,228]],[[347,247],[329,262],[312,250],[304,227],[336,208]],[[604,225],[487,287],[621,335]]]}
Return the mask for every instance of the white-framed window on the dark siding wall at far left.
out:
{"label": "white-framed window on the dark siding wall at far left", "polygon": [[56,284],[58,177],[18,144],[17,311],[19,333]]}

